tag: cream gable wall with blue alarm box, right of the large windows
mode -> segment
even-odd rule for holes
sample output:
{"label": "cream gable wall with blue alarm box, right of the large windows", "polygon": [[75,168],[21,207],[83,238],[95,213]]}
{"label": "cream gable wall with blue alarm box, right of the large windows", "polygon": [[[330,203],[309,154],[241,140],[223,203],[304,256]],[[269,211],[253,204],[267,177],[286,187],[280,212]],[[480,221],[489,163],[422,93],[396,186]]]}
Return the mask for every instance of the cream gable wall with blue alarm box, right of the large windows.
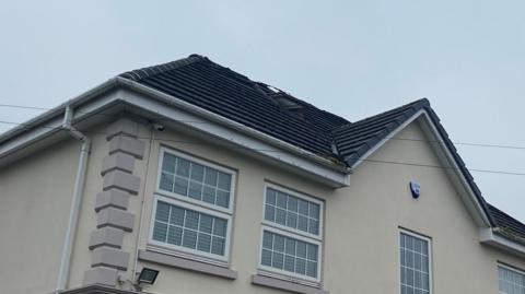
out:
{"label": "cream gable wall with blue alarm box, right of the large windows", "polygon": [[[427,140],[417,122],[397,138]],[[441,165],[428,142],[390,140],[370,158]],[[410,180],[421,184],[411,198]],[[432,238],[433,293],[498,293],[498,261],[525,260],[479,244],[445,170],[364,162],[326,204],[325,282],[331,293],[399,293],[399,230]]]}

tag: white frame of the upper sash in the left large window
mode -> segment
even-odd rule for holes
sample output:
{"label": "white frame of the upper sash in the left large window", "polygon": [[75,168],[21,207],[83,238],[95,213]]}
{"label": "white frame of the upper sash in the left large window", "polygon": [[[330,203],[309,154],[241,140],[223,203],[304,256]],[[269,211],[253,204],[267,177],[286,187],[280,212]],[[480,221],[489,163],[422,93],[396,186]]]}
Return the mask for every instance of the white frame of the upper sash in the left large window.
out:
{"label": "white frame of the upper sash in the left large window", "polygon": [[[232,184],[231,184],[231,187],[230,187],[229,208],[222,208],[222,207],[219,207],[219,205],[207,203],[205,201],[195,200],[195,199],[192,199],[188,196],[178,195],[176,192],[162,190],[160,188],[161,187],[162,163],[164,162],[164,155],[166,153],[175,155],[177,157],[188,160],[190,162],[201,164],[201,165],[207,166],[207,167],[214,168],[217,170],[220,170],[220,172],[223,172],[223,173],[226,173],[226,174],[231,175],[232,176]],[[211,210],[217,210],[217,211],[220,211],[220,212],[225,212],[225,213],[232,214],[233,213],[233,203],[235,201],[235,189],[234,189],[235,188],[235,181],[236,181],[236,173],[233,169],[213,164],[211,162],[203,161],[199,157],[191,156],[191,155],[189,155],[187,153],[183,153],[180,151],[176,151],[176,150],[173,150],[173,149],[161,146],[160,155],[159,155],[159,166],[158,166],[158,170],[156,170],[155,193],[172,197],[172,198],[176,198],[176,199],[179,199],[180,201],[184,201],[184,202],[189,202],[191,204],[196,204],[196,205],[199,205],[199,207],[205,207],[205,208],[208,208],[208,209],[211,209]]]}

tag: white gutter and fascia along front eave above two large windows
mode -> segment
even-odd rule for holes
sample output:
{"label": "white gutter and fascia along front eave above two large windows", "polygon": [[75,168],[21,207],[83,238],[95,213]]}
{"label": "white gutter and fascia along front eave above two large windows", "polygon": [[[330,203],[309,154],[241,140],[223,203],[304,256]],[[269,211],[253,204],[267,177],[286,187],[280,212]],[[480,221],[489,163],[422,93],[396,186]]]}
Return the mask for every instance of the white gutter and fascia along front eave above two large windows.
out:
{"label": "white gutter and fascia along front eave above two large windows", "polygon": [[[260,137],[257,138],[255,136],[249,136],[246,133],[246,129],[249,128],[246,128],[245,126],[242,126],[244,131],[240,130],[240,126],[235,126],[236,128],[224,126],[224,124],[210,119],[208,116],[209,113],[201,111],[201,108],[199,108],[198,114],[195,114],[183,107],[178,107],[178,105],[173,105],[174,98],[172,97],[170,97],[167,102],[175,107],[166,107],[166,102],[152,99],[150,95],[143,95],[141,93],[136,93],[135,91],[127,91],[121,95],[120,99],[126,103],[127,107],[131,106],[144,109],[149,113],[155,114],[155,116],[162,119],[162,121],[173,120],[174,122],[186,126],[191,130],[207,133],[232,143],[233,145],[241,146],[248,152],[275,160],[295,170],[299,169],[302,174],[315,176],[330,187],[339,188],[350,184],[350,175],[348,174],[348,170],[335,166],[334,163],[328,162],[331,164],[331,166],[329,166],[325,162],[326,160],[316,158],[318,156],[307,154],[303,150],[300,150],[301,152],[298,152],[298,154],[283,149],[282,146],[271,144],[267,140],[261,140]],[[223,118],[221,117],[221,119]],[[249,129],[249,132],[253,132],[253,129]]]}

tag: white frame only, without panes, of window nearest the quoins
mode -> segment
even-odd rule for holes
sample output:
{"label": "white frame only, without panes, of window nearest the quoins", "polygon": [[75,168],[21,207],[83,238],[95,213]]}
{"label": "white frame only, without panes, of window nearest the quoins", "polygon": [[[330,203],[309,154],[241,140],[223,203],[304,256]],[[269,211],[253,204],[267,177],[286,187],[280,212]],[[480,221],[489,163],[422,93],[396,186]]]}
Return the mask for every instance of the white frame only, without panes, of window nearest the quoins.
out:
{"label": "white frame only, without panes, of window nearest the quoins", "polygon": [[[162,173],[162,163],[164,161],[164,154],[170,153],[178,157],[183,157],[185,160],[221,170],[223,173],[228,173],[232,176],[232,183],[230,187],[230,202],[229,208],[221,208],[218,205],[213,205],[203,201],[198,201],[191,199],[186,196],[182,196],[175,192],[168,192],[165,190],[160,189],[161,183],[161,173]],[[235,180],[236,180],[236,173],[233,169],[229,169],[217,164],[212,164],[206,162],[200,158],[196,158],[191,155],[182,153],[179,151],[175,151],[173,149],[168,149],[165,146],[161,146],[160,156],[159,156],[159,168],[156,174],[156,183],[155,183],[155,191],[153,195],[153,207],[151,211],[151,220],[150,220],[150,233],[148,236],[148,245],[149,247],[153,246],[153,250],[165,251],[166,254],[182,256],[185,258],[191,258],[200,261],[208,261],[211,263],[217,263],[219,266],[228,264],[230,261],[230,250],[231,250],[231,238],[232,238],[232,222],[233,222],[233,208],[234,208],[234,193],[235,193]],[[186,248],[184,246],[172,245],[168,243],[163,243],[153,239],[153,227],[155,224],[155,213],[156,213],[156,205],[158,202],[166,202],[168,204],[173,204],[176,207],[180,207],[183,209],[192,210],[199,213],[208,214],[211,216],[220,217],[226,220],[226,236],[224,243],[224,256],[214,255],[211,252],[203,252],[197,249]]]}

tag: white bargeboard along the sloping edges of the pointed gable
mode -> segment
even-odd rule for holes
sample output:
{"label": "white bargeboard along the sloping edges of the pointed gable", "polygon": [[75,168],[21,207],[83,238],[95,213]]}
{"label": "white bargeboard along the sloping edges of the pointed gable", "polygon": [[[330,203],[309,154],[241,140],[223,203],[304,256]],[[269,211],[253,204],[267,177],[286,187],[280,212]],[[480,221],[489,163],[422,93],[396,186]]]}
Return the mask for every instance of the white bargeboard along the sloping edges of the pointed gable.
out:
{"label": "white bargeboard along the sloping edges of the pointed gable", "polygon": [[[405,129],[408,125],[412,124],[419,119],[421,124],[421,127],[425,134],[429,138],[432,138],[431,140],[435,141],[435,144],[431,144],[441,162],[444,163],[444,166],[450,166],[451,168],[447,168],[447,173],[454,176],[454,178],[457,178],[459,180],[459,186],[463,189],[458,189],[459,195],[462,198],[464,198],[464,203],[467,205],[467,209],[474,214],[474,219],[478,223],[479,226],[481,227],[490,227],[490,220],[489,216],[487,215],[482,204],[479,202],[478,198],[476,197],[476,193],[474,192],[472,188],[468,184],[467,178],[465,178],[465,175],[462,173],[459,169],[459,165],[457,164],[456,160],[454,158],[454,155],[452,154],[451,150],[446,146],[444,143],[445,141],[443,140],[443,137],[441,133],[438,131],[436,126],[432,121],[430,115],[428,114],[427,110],[420,109],[416,114],[413,114],[407,121],[401,124],[399,127],[397,127],[394,131],[392,131],[385,139],[383,139],[380,143],[377,143],[374,148],[372,148],[370,151],[368,151],[352,167],[352,170],[355,170],[355,168],[364,162],[368,157],[370,157],[374,152],[376,152],[380,148],[382,148],[386,142],[390,140],[390,138],[394,138],[397,136],[402,129]],[[440,156],[443,155],[443,156]],[[462,190],[464,192],[462,192]]]}

